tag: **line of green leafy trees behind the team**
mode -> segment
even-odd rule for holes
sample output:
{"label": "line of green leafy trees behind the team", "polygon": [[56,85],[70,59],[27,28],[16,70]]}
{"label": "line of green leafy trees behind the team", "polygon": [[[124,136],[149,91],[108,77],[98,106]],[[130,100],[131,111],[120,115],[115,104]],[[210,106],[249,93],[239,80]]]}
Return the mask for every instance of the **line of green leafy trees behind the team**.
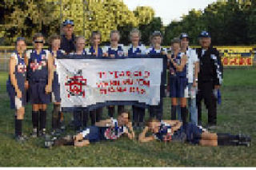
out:
{"label": "line of green leafy trees behind the team", "polygon": [[[60,2],[62,2],[60,4]],[[86,3],[85,3],[86,2]],[[244,4],[236,0],[218,1],[204,10],[190,10],[180,21],[162,25],[154,17],[154,10],[138,6],[134,11],[120,0],[3,0],[0,4],[0,45],[12,45],[17,37],[29,41],[36,32],[46,37],[61,32],[64,19],[73,19],[76,35],[100,30],[102,42],[109,41],[111,30],[119,30],[121,43],[129,43],[129,32],[137,27],[142,32],[142,43],[150,45],[150,34],[160,30],[162,45],[170,45],[172,38],[182,32],[190,35],[190,42],[198,44],[198,34],[207,30],[214,45],[256,44],[256,1]]]}

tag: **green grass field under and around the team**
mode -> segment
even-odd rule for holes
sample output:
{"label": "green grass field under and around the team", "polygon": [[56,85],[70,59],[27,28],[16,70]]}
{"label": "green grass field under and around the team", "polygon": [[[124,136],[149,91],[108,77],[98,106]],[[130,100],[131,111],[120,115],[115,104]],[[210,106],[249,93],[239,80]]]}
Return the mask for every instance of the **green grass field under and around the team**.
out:
{"label": "green grass field under and around the team", "polygon": [[[9,109],[6,93],[7,74],[0,73],[0,167],[174,167],[174,166],[256,166],[256,68],[225,69],[222,85],[222,105],[218,106],[218,128],[215,132],[242,132],[252,136],[252,146],[202,147],[190,144],[150,142],[140,144],[137,140],[122,138],[90,144],[86,148],[65,146],[43,148],[41,138],[30,139],[25,144],[14,140],[14,110]],[[50,129],[48,109],[47,127]],[[130,109],[128,107],[128,109]],[[206,124],[206,109],[203,109]],[[104,110],[106,117],[106,109]],[[148,117],[148,113],[146,113]],[[70,121],[70,114],[66,121]],[[170,98],[164,100],[164,118],[170,118]],[[25,134],[31,128],[31,107],[26,107],[23,123]],[[138,132],[137,132],[138,133]]]}

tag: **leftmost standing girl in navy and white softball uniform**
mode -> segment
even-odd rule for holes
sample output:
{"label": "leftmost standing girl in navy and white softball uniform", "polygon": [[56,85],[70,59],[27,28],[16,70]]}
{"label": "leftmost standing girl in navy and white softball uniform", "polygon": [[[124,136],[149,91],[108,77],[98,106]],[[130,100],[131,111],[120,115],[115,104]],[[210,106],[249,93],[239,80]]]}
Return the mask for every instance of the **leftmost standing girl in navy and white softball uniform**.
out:
{"label": "leftmost standing girl in navy and white softball uniform", "polygon": [[25,38],[17,38],[16,50],[10,57],[9,78],[6,82],[7,91],[10,96],[10,108],[15,109],[15,139],[26,140],[22,135],[22,120],[25,114],[26,105],[26,42]]}

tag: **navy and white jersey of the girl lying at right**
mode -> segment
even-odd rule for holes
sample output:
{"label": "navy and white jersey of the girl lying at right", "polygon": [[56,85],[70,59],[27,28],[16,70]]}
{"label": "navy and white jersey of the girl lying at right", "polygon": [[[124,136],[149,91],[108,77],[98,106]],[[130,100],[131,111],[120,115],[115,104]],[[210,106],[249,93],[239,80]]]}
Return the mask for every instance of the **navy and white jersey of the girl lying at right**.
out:
{"label": "navy and white jersey of the girl lying at right", "polygon": [[157,133],[154,133],[154,137],[157,140],[169,141],[171,140],[171,134],[171,126],[169,124],[166,124],[165,122],[161,122],[159,131]]}

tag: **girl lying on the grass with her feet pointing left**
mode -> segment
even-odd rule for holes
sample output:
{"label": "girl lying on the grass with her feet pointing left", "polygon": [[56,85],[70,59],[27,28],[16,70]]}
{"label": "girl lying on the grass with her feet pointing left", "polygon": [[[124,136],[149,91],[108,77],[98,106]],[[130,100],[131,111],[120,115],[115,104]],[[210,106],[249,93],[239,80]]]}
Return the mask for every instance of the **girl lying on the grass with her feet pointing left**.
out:
{"label": "girl lying on the grass with her feet pointing left", "polygon": [[134,130],[130,122],[130,114],[123,112],[118,119],[108,119],[96,122],[94,126],[85,128],[74,136],[65,136],[61,139],[46,141],[46,148],[60,145],[74,145],[78,147],[87,146],[91,142],[100,140],[117,140],[126,135],[130,140],[134,139]]}

